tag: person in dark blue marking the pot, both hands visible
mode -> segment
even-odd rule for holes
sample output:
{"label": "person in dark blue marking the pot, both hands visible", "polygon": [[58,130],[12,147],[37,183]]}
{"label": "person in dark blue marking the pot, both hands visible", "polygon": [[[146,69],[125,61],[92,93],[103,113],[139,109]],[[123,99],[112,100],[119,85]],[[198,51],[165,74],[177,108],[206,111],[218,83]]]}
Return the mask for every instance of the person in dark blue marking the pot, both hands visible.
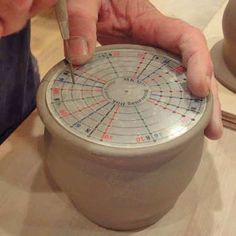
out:
{"label": "person in dark blue marking the pot, both hands visible", "polygon": [[[32,16],[56,0],[0,1],[0,141],[34,109],[39,82],[30,52]],[[148,0],[68,0],[70,52],[74,64],[88,61],[96,41],[160,47],[182,57],[188,87],[199,97],[212,91],[214,108],[205,135],[222,135],[220,103],[213,66],[203,34],[197,28],[164,16]],[[46,26],[45,26],[46,27]]]}

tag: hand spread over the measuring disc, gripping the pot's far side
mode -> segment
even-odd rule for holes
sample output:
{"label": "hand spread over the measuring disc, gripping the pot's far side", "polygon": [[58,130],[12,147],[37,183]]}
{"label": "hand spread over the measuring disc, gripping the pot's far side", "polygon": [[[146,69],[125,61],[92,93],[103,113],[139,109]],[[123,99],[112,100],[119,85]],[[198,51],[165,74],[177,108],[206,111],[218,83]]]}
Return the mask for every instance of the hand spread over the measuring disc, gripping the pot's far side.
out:
{"label": "hand spread over the measuring disc, gripping the pot's far side", "polygon": [[211,89],[213,115],[205,135],[222,135],[220,102],[213,66],[200,30],[162,15],[147,0],[68,0],[74,64],[85,63],[93,54],[96,41],[102,44],[136,43],[160,47],[179,54],[187,68],[188,87],[199,97]]}

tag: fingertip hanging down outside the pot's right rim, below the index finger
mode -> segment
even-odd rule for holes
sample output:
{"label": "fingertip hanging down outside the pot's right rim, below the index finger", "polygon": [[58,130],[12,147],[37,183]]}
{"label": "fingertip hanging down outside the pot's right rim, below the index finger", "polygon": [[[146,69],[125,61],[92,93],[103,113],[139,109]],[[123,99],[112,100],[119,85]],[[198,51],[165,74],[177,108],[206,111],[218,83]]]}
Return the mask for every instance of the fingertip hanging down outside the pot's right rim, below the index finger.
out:
{"label": "fingertip hanging down outside the pot's right rim, below the index finger", "polygon": [[213,76],[211,80],[211,91],[213,95],[213,113],[208,124],[208,127],[205,129],[205,135],[210,139],[219,139],[223,133],[223,123],[222,115],[220,108],[220,101],[218,97],[218,89],[216,79]]}

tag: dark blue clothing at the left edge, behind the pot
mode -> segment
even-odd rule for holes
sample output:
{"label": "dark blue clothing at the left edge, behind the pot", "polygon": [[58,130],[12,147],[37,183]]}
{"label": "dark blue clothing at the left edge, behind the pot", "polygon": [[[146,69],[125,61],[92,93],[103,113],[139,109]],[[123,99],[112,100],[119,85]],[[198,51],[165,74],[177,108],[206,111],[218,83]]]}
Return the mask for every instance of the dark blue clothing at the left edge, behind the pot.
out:
{"label": "dark blue clothing at the left edge, behind the pot", "polygon": [[0,144],[35,108],[38,83],[28,24],[0,39]]}

